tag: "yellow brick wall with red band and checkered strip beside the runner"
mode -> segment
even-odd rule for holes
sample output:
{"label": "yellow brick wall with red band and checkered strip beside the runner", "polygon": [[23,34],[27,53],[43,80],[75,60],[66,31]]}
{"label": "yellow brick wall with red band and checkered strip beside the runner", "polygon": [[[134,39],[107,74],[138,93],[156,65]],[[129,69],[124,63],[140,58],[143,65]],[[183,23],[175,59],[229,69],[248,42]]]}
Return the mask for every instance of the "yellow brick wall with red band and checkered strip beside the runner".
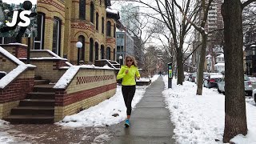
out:
{"label": "yellow brick wall with red band and checkered strip beside the runner", "polygon": [[116,87],[114,70],[80,68],[65,89],[56,89],[54,121],[112,97]]}

